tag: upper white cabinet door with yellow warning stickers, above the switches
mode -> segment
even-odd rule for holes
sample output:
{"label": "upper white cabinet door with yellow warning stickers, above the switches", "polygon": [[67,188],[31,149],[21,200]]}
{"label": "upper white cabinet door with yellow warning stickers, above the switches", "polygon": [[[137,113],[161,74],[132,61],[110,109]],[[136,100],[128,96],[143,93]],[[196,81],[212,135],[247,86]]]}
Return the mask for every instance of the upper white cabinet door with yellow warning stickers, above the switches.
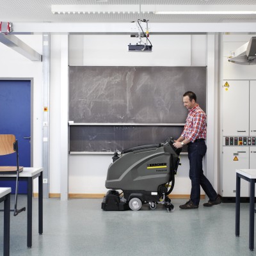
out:
{"label": "upper white cabinet door with yellow warning stickers, above the switches", "polygon": [[249,81],[223,81],[225,83],[222,104],[223,136],[248,136]]}

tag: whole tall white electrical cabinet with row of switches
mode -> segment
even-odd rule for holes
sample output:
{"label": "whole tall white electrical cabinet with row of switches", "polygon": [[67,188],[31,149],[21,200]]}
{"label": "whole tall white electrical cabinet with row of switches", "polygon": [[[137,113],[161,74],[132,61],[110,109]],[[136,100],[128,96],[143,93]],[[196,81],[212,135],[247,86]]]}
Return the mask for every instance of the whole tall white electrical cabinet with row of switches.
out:
{"label": "whole tall white electrical cabinet with row of switches", "polygon": [[[256,81],[223,81],[220,195],[236,196],[236,169],[256,169]],[[241,196],[249,196],[241,179]]]}

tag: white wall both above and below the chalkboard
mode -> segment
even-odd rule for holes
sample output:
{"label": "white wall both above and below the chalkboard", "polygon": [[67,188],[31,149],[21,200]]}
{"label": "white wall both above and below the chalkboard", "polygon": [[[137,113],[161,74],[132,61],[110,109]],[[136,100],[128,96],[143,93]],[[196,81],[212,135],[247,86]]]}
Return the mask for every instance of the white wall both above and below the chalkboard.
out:
{"label": "white wall both above and below the chalkboard", "polygon": [[[129,42],[136,43],[129,35],[71,35],[69,65],[205,66],[207,63],[206,35],[154,35],[150,40],[153,52],[127,52]],[[182,102],[180,108],[183,108]],[[106,193],[105,180],[111,157],[70,155],[68,192]],[[172,194],[189,195],[187,155],[181,156],[181,163]]]}

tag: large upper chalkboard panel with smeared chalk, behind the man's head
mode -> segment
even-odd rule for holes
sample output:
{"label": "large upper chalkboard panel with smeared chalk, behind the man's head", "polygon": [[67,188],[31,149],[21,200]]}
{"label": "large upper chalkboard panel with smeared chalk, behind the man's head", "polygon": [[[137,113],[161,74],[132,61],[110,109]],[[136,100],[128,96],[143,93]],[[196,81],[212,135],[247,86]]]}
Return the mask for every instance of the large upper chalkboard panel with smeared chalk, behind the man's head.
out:
{"label": "large upper chalkboard panel with smeared chalk, behind the man's head", "polygon": [[205,110],[206,67],[69,67],[69,120],[182,124],[182,95]]}

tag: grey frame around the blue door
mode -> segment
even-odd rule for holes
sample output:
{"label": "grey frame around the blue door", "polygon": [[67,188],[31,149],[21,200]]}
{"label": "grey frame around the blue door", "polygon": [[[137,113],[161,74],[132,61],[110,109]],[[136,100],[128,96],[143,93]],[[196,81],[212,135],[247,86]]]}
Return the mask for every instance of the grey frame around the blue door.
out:
{"label": "grey frame around the blue door", "polygon": [[33,136],[33,106],[34,106],[34,79],[33,77],[0,77],[0,81],[30,81],[30,166],[33,166],[34,157],[33,157],[33,145],[34,145],[34,136]]}

